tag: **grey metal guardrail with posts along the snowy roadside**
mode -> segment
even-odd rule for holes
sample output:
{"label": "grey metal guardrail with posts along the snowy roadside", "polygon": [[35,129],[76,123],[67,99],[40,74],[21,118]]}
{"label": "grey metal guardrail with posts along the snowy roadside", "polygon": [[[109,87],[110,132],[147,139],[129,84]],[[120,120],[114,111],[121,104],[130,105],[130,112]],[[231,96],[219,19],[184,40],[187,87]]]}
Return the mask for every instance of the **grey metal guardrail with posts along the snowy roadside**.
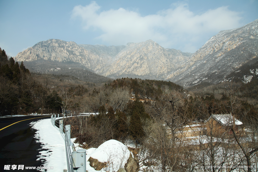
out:
{"label": "grey metal guardrail with posts along the snowy roadside", "polygon": [[[58,114],[59,118],[59,114]],[[56,115],[51,116],[51,123],[54,127],[60,131],[62,137],[65,140],[65,148],[66,148],[66,161],[67,161],[67,171],[68,172],[86,172],[86,150],[79,149],[71,152],[71,125],[63,126],[63,120],[56,120]]]}

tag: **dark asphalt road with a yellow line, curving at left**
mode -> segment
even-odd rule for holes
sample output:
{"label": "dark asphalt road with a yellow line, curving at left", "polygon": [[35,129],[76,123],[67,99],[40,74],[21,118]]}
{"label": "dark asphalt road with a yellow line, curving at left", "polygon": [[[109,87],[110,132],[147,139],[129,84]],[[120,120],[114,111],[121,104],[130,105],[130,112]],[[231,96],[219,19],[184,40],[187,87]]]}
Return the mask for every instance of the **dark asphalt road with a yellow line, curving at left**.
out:
{"label": "dark asphalt road with a yellow line, curving at left", "polygon": [[[41,143],[36,143],[36,130],[29,124],[47,118],[50,115],[0,118],[0,171],[37,171],[25,167],[42,166],[42,162],[37,161]],[[4,170],[4,165],[17,165],[17,169]],[[18,170],[18,165],[24,165],[24,169]]]}

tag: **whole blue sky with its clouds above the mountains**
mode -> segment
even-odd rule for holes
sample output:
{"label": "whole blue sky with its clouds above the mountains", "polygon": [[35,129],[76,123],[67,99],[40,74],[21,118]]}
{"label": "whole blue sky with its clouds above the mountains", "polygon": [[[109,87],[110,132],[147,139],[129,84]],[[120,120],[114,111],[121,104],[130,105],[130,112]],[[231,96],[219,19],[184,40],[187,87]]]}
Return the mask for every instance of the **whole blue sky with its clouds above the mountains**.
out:
{"label": "whole blue sky with its clouds above the mountains", "polygon": [[0,3],[0,47],[13,57],[48,39],[107,46],[152,39],[194,53],[219,31],[258,19],[258,0]]}

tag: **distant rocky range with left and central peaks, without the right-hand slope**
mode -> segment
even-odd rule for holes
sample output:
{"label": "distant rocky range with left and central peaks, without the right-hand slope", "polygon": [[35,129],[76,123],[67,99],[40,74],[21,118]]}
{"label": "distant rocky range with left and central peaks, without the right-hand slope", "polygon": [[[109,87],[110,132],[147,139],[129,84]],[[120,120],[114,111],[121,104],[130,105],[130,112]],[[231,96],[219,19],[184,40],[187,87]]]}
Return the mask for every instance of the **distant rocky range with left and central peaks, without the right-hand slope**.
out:
{"label": "distant rocky range with left and central peaks, without the right-hand slope", "polygon": [[16,61],[76,62],[103,76],[161,79],[164,73],[188,60],[191,53],[165,49],[152,40],[126,46],[77,45],[49,39],[20,52]]}

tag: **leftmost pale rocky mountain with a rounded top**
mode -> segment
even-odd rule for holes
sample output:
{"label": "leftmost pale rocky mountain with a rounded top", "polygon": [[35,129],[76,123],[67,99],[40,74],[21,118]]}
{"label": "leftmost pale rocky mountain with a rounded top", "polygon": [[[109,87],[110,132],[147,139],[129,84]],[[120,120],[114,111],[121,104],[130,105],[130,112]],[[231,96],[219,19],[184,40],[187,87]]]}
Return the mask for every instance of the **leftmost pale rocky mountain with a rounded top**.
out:
{"label": "leftmost pale rocky mountain with a rounded top", "polygon": [[77,62],[91,70],[99,70],[109,63],[108,57],[99,56],[92,50],[78,46],[75,42],[59,39],[49,39],[35,44],[20,52],[14,58],[16,61],[51,60],[59,62]]}

